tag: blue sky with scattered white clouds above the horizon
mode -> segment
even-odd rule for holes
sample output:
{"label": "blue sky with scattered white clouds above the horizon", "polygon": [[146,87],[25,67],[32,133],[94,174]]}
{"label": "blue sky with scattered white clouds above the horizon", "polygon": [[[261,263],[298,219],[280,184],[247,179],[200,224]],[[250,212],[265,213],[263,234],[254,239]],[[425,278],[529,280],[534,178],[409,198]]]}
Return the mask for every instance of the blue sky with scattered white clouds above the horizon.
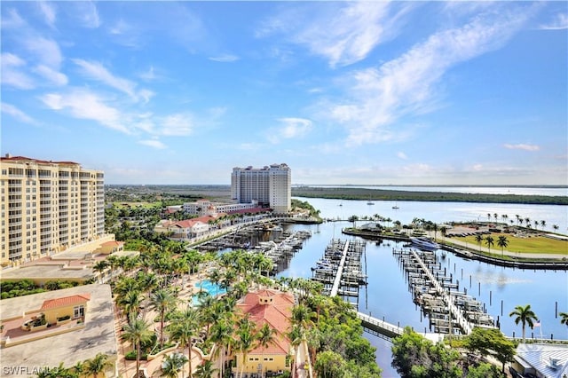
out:
{"label": "blue sky with scattered white clouds above the horizon", "polygon": [[568,184],[566,2],[9,2],[2,154],[107,184]]}

